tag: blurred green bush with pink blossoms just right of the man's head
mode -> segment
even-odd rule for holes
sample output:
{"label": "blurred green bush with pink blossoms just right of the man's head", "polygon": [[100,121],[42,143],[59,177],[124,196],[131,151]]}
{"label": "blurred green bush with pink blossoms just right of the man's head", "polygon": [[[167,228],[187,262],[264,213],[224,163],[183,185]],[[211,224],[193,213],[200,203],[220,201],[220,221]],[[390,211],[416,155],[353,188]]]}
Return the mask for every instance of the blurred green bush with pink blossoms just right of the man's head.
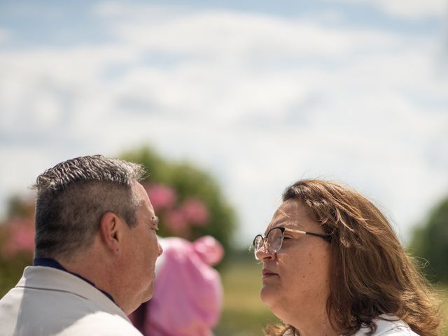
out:
{"label": "blurred green bush with pink blossoms just right of the man's head", "polygon": [[191,162],[162,158],[147,146],[120,157],[144,165],[148,172],[142,184],[160,218],[158,235],[189,241],[210,235],[228,254],[237,220],[229,199],[211,174]]}

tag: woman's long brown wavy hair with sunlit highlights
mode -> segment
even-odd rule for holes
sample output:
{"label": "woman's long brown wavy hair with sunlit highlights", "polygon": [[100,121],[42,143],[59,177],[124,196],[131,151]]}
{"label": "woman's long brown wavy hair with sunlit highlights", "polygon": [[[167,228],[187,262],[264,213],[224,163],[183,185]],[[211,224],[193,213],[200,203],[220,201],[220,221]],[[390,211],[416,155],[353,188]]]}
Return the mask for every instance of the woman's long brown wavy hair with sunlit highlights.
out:
{"label": "woman's long brown wavy hair with sunlit highlights", "polygon": [[[302,202],[309,216],[332,235],[327,314],[335,330],[354,335],[391,314],[421,336],[440,335],[437,300],[381,211],[356,190],[339,183],[302,180],[286,188],[283,201]],[[291,325],[268,325],[283,335]]]}

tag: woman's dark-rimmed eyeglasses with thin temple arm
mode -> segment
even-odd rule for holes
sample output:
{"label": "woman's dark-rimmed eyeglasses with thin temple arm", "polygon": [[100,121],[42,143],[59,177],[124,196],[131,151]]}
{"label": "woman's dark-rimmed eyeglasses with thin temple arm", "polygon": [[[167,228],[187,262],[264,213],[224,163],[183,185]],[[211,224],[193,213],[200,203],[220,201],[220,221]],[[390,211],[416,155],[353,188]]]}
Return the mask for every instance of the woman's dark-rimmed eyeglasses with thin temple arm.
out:
{"label": "woman's dark-rimmed eyeglasses with thin temple arm", "polygon": [[260,260],[257,256],[257,253],[261,248],[264,248],[264,252],[267,251],[268,253],[276,253],[280,251],[281,244],[283,243],[283,235],[286,231],[301,233],[302,235],[321,237],[326,241],[331,241],[331,235],[321,235],[320,233],[293,230],[283,227],[272,228],[267,232],[266,237],[264,237],[263,235],[256,235],[255,239],[253,239],[255,259]]}

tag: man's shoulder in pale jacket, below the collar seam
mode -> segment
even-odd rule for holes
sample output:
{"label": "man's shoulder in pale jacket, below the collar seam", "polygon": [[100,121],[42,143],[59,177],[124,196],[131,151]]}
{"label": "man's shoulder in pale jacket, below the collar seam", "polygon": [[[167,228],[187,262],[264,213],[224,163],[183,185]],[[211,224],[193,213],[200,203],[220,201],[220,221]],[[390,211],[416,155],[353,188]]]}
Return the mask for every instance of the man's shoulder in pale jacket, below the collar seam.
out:
{"label": "man's shoulder in pale jacket, below the collar seam", "polygon": [[13,288],[1,300],[0,335],[141,336],[123,316],[103,311],[77,295],[36,290],[29,296],[29,290]]}

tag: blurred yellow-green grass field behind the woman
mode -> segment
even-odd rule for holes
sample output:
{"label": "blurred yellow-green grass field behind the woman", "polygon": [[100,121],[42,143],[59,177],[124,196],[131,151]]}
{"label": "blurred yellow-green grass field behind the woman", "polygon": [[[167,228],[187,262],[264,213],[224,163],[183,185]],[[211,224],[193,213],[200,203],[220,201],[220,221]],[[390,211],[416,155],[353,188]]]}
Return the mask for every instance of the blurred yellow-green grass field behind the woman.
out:
{"label": "blurred yellow-green grass field behind the woman", "polygon": [[[262,328],[278,319],[260,300],[261,265],[250,258],[235,258],[221,269],[224,286],[224,307],[216,336],[258,336]],[[448,336],[448,288],[438,288],[442,314]]]}

